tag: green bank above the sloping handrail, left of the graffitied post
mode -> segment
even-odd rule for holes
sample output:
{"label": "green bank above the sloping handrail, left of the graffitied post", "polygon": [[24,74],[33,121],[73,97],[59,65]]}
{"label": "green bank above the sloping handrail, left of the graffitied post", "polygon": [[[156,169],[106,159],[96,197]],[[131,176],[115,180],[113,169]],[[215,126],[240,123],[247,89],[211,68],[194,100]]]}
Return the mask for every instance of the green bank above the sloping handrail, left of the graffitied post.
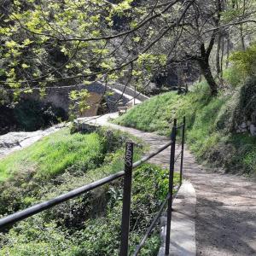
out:
{"label": "green bank above the sloping handrail, left of the graffitied post", "polygon": [[[5,157],[0,161],[0,215],[123,170],[127,137],[119,131],[70,134],[64,129]],[[135,160],[142,152],[135,148]]]}

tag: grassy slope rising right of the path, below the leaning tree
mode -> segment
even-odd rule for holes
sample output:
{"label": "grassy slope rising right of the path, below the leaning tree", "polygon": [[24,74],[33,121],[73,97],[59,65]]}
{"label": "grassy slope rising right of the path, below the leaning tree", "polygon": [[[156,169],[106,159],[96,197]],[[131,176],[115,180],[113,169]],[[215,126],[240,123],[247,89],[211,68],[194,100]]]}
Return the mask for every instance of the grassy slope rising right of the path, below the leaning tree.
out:
{"label": "grassy slope rising right of the path, below the leaning tree", "polygon": [[178,96],[169,92],[154,96],[115,120],[119,125],[170,135],[172,120],[187,118],[187,143],[199,160],[224,166],[231,172],[256,173],[256,137],[232,134],[231,122],[236,93],[209,96],[207,84],[197,84],[195,91]]}

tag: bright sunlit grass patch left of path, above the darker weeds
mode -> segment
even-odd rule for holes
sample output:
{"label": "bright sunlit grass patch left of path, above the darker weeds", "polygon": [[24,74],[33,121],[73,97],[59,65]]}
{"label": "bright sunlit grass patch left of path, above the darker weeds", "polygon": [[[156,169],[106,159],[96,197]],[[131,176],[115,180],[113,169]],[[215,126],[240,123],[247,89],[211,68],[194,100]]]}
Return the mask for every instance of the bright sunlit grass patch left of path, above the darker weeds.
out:
{"label": "bright sunlit grass patch left of path, above the darker weeds", "polygon": [[103,150],[104,145],[96,133],[70,135],[68,129],[58,131],[1,160],[0,181],[27,170],[38,177],[54,177],[76,162],[90,168],[100,162]]}

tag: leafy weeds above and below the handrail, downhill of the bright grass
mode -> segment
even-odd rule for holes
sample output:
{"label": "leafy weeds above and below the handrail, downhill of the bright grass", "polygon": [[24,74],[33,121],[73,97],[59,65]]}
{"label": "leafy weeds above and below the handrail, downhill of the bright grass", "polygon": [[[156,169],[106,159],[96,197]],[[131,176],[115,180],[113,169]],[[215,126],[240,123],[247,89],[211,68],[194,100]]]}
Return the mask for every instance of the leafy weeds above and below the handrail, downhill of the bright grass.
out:
{"label": "leafy weeds above and below the handrail, downhill of the bright grass", "polygon": [[[109,138],[109,131],[101,131],[99,136],[102,134]],[[61,135],[57,136],[58,138],[55,137],[55,139],[59,140]],[[73,137],[73,140],[81,140],[80,136]],[[96,135],[91,134],[91,136]],[[118,132],[110,137],[115,138],[113,147],[124,145],[126,138],[124,134]],[[90,150],[94,151],[94,148]],[[135,153],[135,160],[137,160],[141,156],[141,149],[136,147]],[[114,150],[113,153],[107,154],[101,166],[85,173],[84,170],[73,166],[73,171],[69,169],[68,172],[64,172],[49,183],[38,179],[38,188],[33,191],[33,195],[27,193],[28,191],[25,193],[25,190],[20,190],[20,200],[23,200],[21,207],[27,204],[27,197],[24,198],[22,195],[31,195],[32,202],[42,201],[119,171],[120,163],[123,166],[123,154],[123,147]],[[1,200],[3,198],[5,200],[3,205],[1,201],[2,213],[7,212],[7,207],[4,205],[9,205],[10,212],[20,208],[14,206],[15,202],[11,197],[17,195],[14,193],[15,189],[32,186],[32,181],[27,179],[27,174],[26,172],[23,181],[18,176],[13,177],[13,182],[9,180],[9,184],[2,183],[2,186],[5,186],[1,188],[1,195],[5,191],[5,196],[1,197]],[[178,177],[175,174],[175,183],[177,181]],[[20,186],[23,182],[26,182],[26,186]],[[142,238],[155,213],[158,212],[167,191],[168,170],[146,164],[134,171],[131,199],[131,252]],[[122,182],[118,181],[28,218],[4,234],[0,233],[0,255],[118,255],[121,209]],[[143,247],[141,255],[156,255],[159,246],[160,236],[156,228]]]}

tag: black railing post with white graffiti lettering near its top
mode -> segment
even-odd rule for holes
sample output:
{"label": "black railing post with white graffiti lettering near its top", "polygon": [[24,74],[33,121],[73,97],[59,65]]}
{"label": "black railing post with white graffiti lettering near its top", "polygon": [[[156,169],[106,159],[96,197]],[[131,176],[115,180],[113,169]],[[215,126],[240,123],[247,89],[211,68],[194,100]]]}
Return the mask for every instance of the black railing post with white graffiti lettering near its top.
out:
{"label": "black railing post with white graffiti lettering near its top", "polygon": [[133,161],[133,143],[126,143],[120,256],[128,255],[130,213],[131,213],[132,161]]}

